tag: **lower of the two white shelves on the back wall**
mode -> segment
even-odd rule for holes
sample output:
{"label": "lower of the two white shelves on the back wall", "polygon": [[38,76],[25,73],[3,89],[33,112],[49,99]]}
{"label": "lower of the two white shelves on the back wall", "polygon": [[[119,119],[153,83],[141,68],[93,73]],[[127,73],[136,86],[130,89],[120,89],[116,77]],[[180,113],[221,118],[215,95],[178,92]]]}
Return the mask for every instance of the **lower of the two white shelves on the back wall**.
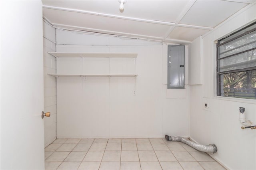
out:
{"label": "lower of the two white shelves on the back wall", "polygon": [[138,74],[48,74],[54,77],[136,77]]}

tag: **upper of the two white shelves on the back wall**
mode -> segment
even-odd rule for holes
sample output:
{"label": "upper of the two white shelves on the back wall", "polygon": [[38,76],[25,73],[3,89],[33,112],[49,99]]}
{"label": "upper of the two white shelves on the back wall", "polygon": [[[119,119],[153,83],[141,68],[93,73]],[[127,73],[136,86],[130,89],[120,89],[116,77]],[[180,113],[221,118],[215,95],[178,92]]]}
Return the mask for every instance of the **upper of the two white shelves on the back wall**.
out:
{"label": "upper of the two white shelves on the back wall", "polygon": [[136,58],[138,53],[59,53],[48,52],[54,57],[123,57]]}

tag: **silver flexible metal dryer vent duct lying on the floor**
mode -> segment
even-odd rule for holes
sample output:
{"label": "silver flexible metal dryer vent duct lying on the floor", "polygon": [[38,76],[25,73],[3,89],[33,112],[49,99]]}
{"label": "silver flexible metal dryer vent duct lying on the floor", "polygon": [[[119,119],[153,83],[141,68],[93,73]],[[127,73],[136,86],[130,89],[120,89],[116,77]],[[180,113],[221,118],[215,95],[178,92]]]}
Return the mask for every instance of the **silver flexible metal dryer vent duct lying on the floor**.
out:
{"label": "silver flexible metal dryer vent duct lying on the floor", "polygon": [[165,139],[168,141],[179,141],[179,142],[185,143],[191,146],[192,148],[202,152],[213,152],[213,153],[217,152],[217,147],[215,144],[209,144],[209,145],[198,144],[196,142],[193,142],[181,136],[168,136],[167,134],[165,135]]}

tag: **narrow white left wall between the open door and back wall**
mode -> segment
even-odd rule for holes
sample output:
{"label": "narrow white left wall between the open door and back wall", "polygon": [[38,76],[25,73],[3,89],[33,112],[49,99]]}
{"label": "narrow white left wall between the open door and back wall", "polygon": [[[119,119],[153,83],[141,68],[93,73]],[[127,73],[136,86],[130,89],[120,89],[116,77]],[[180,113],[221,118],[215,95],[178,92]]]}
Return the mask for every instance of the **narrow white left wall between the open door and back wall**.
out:
{"label": "narrow white left wall between the open door and back wall", "polygon": [[44,146],[56,139],[56,78],[48,73],[56,73],[56,58],[48,52],[56,51],[56,30],[43,22],[44,38],[44,112],[51,112],[44,119]]}

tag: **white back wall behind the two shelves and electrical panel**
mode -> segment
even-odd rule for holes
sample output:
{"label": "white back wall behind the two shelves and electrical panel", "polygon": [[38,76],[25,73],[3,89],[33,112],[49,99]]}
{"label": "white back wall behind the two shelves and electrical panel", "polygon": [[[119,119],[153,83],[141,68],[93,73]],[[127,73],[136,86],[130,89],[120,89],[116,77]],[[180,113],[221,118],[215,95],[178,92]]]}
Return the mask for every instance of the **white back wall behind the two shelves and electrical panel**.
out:
{"label": "white back wall behind the two shelves and electrical panel", "polygon": [[[167,91],[166,44],[61,30],[56,34],[58,43],[83,44],[57,45],[58,52],[138,53],[136,68],[130,59],[110,59],[111,73],[138,73],[136,95],[132,95],[134,77],[87,77],[86,81],[82,77],[57,78],[57,138],[189,135],[188,86]],[[57,73],[109,71],[108,58],[72,60],[58,58]]]}

